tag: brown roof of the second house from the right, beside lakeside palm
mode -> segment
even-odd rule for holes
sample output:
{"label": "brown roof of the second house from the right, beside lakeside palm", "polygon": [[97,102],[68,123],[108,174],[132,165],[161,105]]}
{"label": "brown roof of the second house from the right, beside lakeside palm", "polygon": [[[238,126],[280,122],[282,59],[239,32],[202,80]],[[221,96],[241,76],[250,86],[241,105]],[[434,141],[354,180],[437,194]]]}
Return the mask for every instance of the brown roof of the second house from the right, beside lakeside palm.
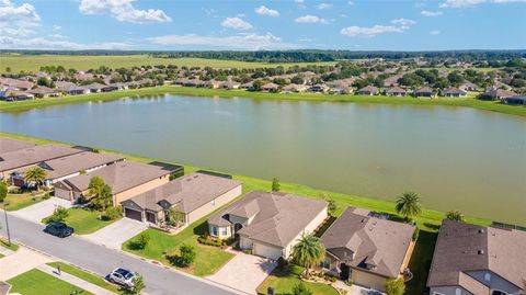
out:
{"label": "brown roof of the second house from the right, beside lakeside palm", "polygon": [[[366,214],[364,214],[366,213]],[[347,207],[323,234],[321,240],[331,254],[341,260],[346,251],[354,254],[347,264],[363,268],[376,265],[370,272],[397,277],[411,243],[414,227],[370,217],[368,212]]]}

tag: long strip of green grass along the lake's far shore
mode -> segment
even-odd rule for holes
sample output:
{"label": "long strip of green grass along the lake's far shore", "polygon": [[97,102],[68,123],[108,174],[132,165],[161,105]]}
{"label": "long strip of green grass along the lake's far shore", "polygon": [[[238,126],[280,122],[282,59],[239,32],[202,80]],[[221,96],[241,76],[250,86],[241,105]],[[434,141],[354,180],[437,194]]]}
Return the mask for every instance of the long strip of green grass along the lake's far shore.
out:
{"label": "long strip of green grass along the lake's far shore", "polygon": [[354,103],[380,103],[380,104],[411,104],[411,105],[445,105],[464,106],[478,110],[498,112],[510,115],[526,117],[526,107],[511,106],[494,101],[480,101],[473,98],[435,98],[415,99],[412,97],[393,98],[386,95],[331,95],[321,93],[267,93],[251,92],[244,90],[221,90],[205,88],[185,88],[176,86],[162,86],[135,90],[123,90],[107,93],[91,93],[83,95],[68,95],[62,98],[46,98],[31,101],[1,102],[0,112],[21,112],[31,109],[47,107],[69,103],[84,103],[90,101],[112,101],[126,97],[148,95],[190,95],[190,97],[213,97],[213,98],[243,98],[255,100],[279,100],[279,101],[317,101],[317,102],[354,102]]}

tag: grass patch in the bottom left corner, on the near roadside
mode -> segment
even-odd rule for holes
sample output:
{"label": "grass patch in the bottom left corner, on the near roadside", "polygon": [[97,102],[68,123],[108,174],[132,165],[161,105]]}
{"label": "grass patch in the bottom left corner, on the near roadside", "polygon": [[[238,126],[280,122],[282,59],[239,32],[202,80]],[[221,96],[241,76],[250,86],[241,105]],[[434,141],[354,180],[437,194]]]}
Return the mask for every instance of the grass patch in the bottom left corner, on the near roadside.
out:
{"label": "grass patch in the bottom left corner, on the near roadside", "polygon": [[11,293],[23,295],[42,295],[44,294],[43,291],[53,295],[70,295],[73,292],[82,295],[91,294],[39,270],[31,270],[20,274],[9,280],[8,283],[12,286]]}

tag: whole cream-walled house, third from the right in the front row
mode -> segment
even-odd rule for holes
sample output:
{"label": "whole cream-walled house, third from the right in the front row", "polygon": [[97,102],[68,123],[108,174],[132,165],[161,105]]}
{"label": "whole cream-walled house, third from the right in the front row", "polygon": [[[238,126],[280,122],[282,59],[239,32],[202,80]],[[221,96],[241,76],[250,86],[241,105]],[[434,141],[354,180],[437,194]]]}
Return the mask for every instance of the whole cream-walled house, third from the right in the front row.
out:
{"label": "whole cream-walled house, third from the right in the front row", "polygon": [[327,218],[325,201],[278,192],[253,191],[208,218],[208,232],[219,239],[239,239],[253,254],[288,258],[302,235]]}

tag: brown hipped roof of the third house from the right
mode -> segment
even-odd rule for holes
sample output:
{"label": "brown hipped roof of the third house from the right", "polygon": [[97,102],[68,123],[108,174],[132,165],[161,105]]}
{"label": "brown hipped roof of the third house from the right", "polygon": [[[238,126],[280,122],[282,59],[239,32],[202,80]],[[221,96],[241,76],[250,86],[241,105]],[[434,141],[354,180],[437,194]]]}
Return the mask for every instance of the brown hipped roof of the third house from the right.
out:
{"label": "brown hipped roof of the third house from the right", "polygon": [[231,225],[230,215],[253,218],[238,232],[252,240],[286,247],[312,222],[328,203],[284,193],[253,191],[214,214],[208,223]]}

